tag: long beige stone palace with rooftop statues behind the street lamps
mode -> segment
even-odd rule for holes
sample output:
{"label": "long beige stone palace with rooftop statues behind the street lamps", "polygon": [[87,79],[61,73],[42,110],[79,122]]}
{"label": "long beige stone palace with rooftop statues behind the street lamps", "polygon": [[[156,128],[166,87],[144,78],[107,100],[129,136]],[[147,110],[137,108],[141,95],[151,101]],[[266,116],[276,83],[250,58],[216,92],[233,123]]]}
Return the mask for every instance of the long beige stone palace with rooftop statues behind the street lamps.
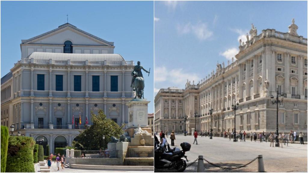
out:
{"label": "long beige stone palace with rooftop statues behind the street lamps", "polygon": [[[215,133],[223,131],[279,132],[307,134],[307,38],[298,36],[298,26],[289,32],[262,30],[252,25],[247,41],[239,40],[239,52],[218,64],[216,72],[201,82],[187,81],[185,89],[160,89],[155,97],[155,131]],[[234,112],[232,104],[239,103]],[[213,109],[212,121],[210,109]]]}

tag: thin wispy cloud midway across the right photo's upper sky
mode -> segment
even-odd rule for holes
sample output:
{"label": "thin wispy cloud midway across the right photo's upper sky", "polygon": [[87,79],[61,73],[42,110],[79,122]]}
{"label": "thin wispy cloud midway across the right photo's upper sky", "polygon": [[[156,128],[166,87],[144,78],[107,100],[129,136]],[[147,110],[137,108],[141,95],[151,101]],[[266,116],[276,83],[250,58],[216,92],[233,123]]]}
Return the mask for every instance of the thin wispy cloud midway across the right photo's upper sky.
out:
{"label": "thin wispy cloud midway across the right photo's upper sky", "polygon": [[196,25],[188,22],[185,25],[178,25],[176,30],[179,34],[194,34],[199,40],[206,40],[213,35],[213,32],[210,31],[206,23],[197,23]]}

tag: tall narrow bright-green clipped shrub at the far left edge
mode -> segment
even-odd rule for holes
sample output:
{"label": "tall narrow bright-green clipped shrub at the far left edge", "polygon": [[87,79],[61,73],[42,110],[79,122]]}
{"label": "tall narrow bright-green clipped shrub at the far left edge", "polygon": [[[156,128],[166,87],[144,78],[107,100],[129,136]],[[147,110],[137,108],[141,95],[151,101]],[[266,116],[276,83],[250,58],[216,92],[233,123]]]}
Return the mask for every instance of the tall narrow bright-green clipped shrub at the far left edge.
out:
{"label": "tall narrow bright-green clipped shrub at the far left edge", "polygon": [[6,126],[1,126],[1,172],[5,172],[8,144],[9,129]]}

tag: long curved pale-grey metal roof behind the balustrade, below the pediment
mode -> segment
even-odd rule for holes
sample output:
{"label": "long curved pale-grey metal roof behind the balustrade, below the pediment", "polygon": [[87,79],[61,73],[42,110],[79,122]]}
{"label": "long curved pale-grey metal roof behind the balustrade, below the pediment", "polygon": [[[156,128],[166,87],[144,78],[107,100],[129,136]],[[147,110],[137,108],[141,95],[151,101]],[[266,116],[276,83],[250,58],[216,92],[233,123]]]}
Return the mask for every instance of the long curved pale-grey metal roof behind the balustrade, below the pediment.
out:
{"label": "long curved pale-grey metal roof behind the balustrade, below the pediment", "polygon": [[123,61],[124,58],[120,54],[64,54],[64,53],[49,53],[49,52],[33,52],[27,58],[34,59],[53,59],[71,61]]}

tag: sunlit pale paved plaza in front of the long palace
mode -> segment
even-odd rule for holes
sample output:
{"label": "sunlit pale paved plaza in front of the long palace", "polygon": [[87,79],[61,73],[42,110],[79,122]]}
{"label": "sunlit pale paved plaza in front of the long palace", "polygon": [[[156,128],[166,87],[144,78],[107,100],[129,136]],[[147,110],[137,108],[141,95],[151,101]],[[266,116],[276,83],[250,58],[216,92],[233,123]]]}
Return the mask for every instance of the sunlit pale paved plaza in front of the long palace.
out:
{"label": "sunlit pale paved plaza in front of the long palace", "polygon": [[[171,145],[171,140],[168,138]],[[270,147],[269,142],[250,141],[233,142],[229,138],[222,137],[201,137],[198,136],[198,145],[193,144],[193,136],[176,135],[175,147],[180,147],[180,143],[188,142],[192,145],[190,151],[186,152],[188,163],[198,158],[199,155],[209,162],[221,167],[238,167],[244,165],[259,154],[263,155],[266,172],[307,172],[307,145],[289,143],[289,146]],[[306,142],[305,142],[306,143]],[[197,163],[188,167],[185,172],[197,170]],[[205,172],[257,172],[257,160],[236,170],[223,170],[211,166],[205,162]]]}

